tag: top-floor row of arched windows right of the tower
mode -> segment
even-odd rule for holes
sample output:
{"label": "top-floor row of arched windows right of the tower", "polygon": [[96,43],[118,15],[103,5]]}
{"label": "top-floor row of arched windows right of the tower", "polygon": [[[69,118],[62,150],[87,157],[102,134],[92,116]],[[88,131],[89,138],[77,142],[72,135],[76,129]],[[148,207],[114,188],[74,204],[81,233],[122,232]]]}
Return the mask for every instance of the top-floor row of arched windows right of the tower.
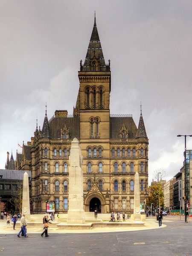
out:
{"label": "top-floor row of arched windows right of the tower", "polygon": [[[112,157],[136,157],[136,148],[112,148],[111,156]],[[140,156],[147,156],[147,149],[140,148]]]}

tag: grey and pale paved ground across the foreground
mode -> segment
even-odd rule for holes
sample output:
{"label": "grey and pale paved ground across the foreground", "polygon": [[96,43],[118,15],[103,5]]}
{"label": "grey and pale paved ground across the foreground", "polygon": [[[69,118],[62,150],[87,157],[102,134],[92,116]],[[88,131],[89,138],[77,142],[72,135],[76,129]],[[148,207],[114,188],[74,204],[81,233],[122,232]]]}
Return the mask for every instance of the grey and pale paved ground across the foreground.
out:
{"label": "grey and pale paved ground across the foreground", "polygon": [[0,256],[192,256],[192,219],[184,223],[183,216],[164,216],[159,228],[155,217],[147,218],[146,229],[126,229],[49,228],[50,236],[41,238],[42,229],[29,228],[28,238],[17,238],[19,229],[0,221]]}

